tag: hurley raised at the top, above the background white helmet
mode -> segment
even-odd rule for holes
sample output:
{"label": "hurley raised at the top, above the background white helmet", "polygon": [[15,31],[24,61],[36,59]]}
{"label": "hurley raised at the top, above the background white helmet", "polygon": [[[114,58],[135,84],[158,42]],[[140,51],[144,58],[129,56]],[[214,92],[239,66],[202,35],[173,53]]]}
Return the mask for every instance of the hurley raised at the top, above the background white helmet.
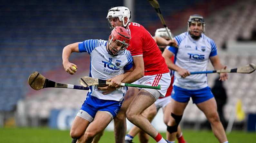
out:
{"label": "hurley raised at the top, above the background white helmet", "polygon": [[173,40],[173,37],[172,37],[171,33],[169,33],[169,31],[168,31],[168,28],[167,28],[166,23],[165,23],[165,19],[164,19],[163,15],[160,11],[160,6],[159,6],[157,0],[147,0],[147,1],[152,5],[153,8],[155,8],[156,13],[157,13],[158,17],[160,18],[161,23],[164,25],[169,38],[171,40]]}

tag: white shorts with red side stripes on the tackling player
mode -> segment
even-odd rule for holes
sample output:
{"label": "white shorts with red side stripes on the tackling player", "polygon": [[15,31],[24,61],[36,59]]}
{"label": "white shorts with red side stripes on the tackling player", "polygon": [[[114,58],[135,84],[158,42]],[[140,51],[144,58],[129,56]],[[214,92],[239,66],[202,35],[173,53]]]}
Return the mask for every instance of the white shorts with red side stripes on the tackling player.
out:
{"label": "white shorts with red side stripes on the tackling player", "polygon": [[[157,75],[145,75],[135,81],[133,84],[141,84],[141,85],[149,85],[149,86],[157,86],[161,85],[161,90],[156,89],[148,89],[148,88],[138,88],[144,89],[153,94],[153,96],[158,99],[160,97],[165,97],[166,91],[171,84],[171,76],[170,73],[157,74]],[[158,91],[158,92],[155,92]],[[156,95],[160,93],[159,95]]]}

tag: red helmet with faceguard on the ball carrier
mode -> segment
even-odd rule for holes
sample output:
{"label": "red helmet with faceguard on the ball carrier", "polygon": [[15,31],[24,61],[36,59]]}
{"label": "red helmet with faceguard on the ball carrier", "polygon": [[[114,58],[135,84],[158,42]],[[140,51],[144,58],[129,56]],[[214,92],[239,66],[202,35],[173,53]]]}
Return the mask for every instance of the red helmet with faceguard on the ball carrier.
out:
{"label": "red helmet with faceguard on the ball carrier", "polygon": [[127,49],[128,45],[130,43],[131,36],[125,28],[123,28],[121,26],[115,27],[111,32],[111,36],[112,36],[112,38],[109,41],[109,45],[112,42],[114,42],[115,45],[116,44],[121,45],[121,48],[119,50],[114,49],[114,53],[109,51],[109,54],[115,55],[118,52],[123,52],[125,49]]}

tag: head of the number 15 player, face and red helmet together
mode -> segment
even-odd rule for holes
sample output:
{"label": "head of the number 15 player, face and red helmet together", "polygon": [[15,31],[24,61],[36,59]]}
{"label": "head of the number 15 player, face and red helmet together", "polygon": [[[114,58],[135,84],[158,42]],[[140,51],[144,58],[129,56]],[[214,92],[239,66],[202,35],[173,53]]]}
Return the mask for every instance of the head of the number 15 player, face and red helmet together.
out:
{"label": "head of the number 15 player, face and red helmet together", "polygon": [[129,46],[131,36],[128,31],[121,27],[115,27],[111,32],[111,39],[108,42],[108,52],[110,55],[118,55]]}

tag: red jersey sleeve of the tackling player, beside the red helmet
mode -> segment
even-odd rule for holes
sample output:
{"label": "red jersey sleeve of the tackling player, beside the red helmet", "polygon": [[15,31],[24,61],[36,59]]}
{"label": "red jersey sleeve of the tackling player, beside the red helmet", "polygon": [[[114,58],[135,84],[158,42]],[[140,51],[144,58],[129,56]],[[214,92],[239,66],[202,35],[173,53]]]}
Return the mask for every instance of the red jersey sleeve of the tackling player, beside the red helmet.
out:
{"label": "red jersey sleeve of the tackling player, beside the red helmet", "polygon": [[132,56],[143,55],[141,37],[132,37],[130,40],[129,51]]}

